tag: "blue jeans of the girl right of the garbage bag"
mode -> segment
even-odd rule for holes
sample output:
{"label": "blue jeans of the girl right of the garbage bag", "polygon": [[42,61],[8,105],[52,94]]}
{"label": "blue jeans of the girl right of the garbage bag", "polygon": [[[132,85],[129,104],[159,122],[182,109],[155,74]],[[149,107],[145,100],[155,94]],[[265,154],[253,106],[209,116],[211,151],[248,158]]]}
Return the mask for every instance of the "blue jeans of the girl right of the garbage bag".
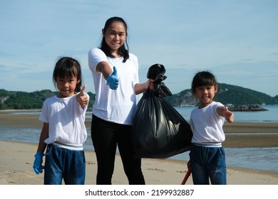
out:
{"label": "blue jeans of the girl right of the garbage bag", "polygon": [[223,147],[192,145],[190,165],[195,185],[226,185],[227,170]]}

